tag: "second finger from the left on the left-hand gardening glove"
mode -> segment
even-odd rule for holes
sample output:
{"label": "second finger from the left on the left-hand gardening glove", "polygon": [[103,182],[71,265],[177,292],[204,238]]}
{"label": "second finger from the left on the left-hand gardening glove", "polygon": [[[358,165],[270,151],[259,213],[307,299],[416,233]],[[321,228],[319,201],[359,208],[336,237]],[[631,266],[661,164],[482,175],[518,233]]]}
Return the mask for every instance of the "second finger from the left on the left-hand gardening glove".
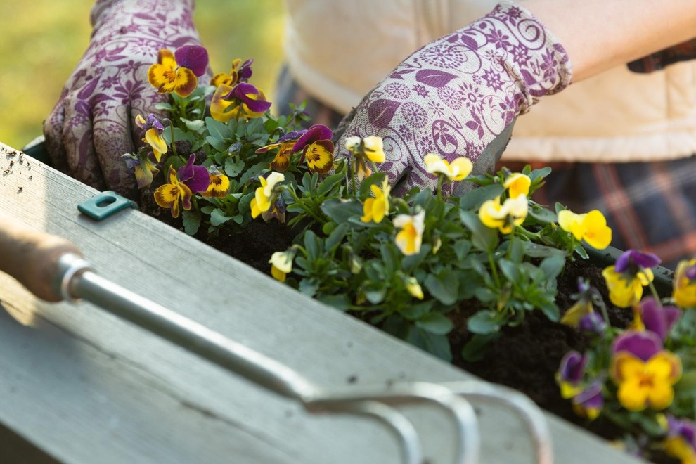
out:
{"label": "second finger from the left on the left-hand gardening glove", "polygon": [[[96,79],[95,79],[96,80]],[[65,119],[60,143],[70,172],[79,181],[98,190],[106,184],[94,151],[91,99],[65,99]]]}

